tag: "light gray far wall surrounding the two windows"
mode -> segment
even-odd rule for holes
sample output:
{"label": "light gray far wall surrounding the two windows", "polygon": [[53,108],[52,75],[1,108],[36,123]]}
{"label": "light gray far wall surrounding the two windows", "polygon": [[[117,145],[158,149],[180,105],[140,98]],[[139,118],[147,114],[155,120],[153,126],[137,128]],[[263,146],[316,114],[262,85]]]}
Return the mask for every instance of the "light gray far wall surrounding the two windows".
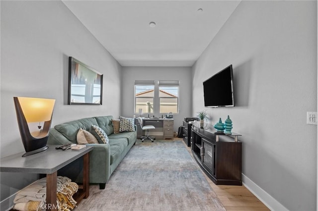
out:
{"label": "light gray far wall surrounding the two windows", "polygon": [[[122,67],[122,115],[134,115],[135,80],[179,80],[179,113],[173,114],[174,131],[183,118],[191,114],[191,67]],[[159,115],[159,102],[155,102],[155,116]]]}

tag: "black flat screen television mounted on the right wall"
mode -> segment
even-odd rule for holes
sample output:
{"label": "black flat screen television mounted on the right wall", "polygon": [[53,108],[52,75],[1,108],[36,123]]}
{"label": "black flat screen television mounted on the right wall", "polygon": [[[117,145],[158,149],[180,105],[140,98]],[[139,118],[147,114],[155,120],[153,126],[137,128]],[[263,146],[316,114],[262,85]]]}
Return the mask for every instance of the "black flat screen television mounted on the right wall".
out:
{"label": "black flat screen television mounted on the right wall", "polygon": [[235,106],[232,64],[203,82],[204,106]]}

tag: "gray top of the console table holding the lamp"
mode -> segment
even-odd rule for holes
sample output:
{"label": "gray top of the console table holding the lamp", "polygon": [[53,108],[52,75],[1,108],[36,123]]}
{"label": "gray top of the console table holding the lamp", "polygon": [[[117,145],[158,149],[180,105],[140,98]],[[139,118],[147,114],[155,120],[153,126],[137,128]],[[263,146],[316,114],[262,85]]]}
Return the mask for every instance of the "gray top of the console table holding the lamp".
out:
{"label": "gray top of the console table holding the lamp", "polygon": [[51,174],[93,150],[92,146],[65,151],[55,149],[61,145],[47,146],[49,149],[34,155],[22,157],[21,152],[0,158],[0,171]]}

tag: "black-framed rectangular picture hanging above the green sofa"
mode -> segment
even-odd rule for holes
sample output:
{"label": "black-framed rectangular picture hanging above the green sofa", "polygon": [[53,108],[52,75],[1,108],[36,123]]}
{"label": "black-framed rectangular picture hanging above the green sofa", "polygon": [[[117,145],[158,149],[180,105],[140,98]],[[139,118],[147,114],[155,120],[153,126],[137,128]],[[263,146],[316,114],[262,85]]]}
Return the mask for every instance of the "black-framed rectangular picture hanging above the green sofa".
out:
{"label": "black-framed rectangular picture hanging above the green sofa", "polygon": [[102,105],[103,75],[69,57],[68,105]]}

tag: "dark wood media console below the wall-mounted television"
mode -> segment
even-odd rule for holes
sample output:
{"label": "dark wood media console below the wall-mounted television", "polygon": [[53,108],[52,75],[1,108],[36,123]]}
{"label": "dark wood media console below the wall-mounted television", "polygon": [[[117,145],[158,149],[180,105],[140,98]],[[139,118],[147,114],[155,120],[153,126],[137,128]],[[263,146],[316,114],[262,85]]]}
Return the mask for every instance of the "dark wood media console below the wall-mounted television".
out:
{"label": "dark wood media console below the wall-mounted television", "polygon": [[242,185],[242,143],[213,130],[192,125],[191,151],[203,171],[217,185]]}

